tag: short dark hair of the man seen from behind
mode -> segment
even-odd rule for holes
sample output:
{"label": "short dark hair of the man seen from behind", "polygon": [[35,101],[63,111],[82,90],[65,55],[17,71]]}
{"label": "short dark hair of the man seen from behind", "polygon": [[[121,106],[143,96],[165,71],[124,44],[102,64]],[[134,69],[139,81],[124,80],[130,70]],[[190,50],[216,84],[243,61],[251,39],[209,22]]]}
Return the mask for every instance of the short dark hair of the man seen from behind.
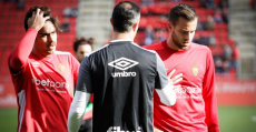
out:
{"label": "short dark hair of the man seen from behind", "polygon": [[112,11],[114,31],[128,32],[132,26],[139,21],[140,9],[130,1],[119,2]]}

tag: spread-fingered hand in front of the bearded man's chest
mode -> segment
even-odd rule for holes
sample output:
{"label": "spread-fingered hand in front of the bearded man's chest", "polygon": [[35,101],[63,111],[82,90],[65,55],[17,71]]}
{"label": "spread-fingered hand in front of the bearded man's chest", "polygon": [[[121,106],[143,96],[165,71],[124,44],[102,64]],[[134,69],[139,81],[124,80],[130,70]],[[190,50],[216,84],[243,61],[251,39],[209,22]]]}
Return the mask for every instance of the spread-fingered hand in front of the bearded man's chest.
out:
{"label": "spread-fingered hand in front of the bearded man's chest", "polygon": [[[169,84],[173,85],[173,89],[177,89],[180,88],[180,84],[177,84],[178,82],[180,82],[183,80],[183,73],[179,73],[175,77],[173,77],[173,74],[175,73],[176,69],[174,69],[169,74],[168,74],[168,79],[169,79]],[[173,78],[171,78],[173,77]]]}

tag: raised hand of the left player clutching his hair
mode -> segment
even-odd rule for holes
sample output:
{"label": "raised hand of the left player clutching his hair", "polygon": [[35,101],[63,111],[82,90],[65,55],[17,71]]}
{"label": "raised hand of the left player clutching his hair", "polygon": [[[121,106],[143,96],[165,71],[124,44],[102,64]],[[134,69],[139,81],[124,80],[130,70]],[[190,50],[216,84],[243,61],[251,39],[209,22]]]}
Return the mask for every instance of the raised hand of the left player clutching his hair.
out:
{"label": "raised hand of the left player clutching his hair", "polygon": [[33,11],[32,17],[28,19],[28,27],[39,31],[43,27],[47,19],[50,19],[50,17],[48,16],[43,18],[43,11],[40,11],[38,8],[37,11]]}

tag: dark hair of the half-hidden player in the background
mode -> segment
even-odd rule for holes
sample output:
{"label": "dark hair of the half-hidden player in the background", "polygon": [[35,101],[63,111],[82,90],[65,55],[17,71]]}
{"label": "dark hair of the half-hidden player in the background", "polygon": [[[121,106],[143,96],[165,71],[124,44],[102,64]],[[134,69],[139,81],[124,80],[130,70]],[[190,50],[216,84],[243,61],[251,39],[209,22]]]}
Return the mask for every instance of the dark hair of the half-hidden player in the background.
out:
{"label": "dark hair of the half-hidden player in the background", "polygon": [[78,47],[82,44],[89,44],[92,50],[93,49],[92,44],[95,44],[95,38],[89,38],[89,39],[86,39],[85,37],[77,38],[76,41],[73,42],[73,51],[77,52]]}

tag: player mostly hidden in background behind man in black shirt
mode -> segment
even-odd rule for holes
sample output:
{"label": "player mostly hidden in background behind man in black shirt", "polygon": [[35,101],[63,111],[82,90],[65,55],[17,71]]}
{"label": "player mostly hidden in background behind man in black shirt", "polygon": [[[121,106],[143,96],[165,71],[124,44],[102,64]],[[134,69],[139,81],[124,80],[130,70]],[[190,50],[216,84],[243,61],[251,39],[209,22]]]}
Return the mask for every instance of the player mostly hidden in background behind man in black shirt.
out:
{"label": "player mostly hidden in background behind man in black shirt", "polygon": [[[93,40],[93,38],[78,38],[73,42],[75,54],[80,63],[82,59],[92,51]],[[90,101],[86,106],[86,112],[78,132],[92,132],[92,103]]]}

